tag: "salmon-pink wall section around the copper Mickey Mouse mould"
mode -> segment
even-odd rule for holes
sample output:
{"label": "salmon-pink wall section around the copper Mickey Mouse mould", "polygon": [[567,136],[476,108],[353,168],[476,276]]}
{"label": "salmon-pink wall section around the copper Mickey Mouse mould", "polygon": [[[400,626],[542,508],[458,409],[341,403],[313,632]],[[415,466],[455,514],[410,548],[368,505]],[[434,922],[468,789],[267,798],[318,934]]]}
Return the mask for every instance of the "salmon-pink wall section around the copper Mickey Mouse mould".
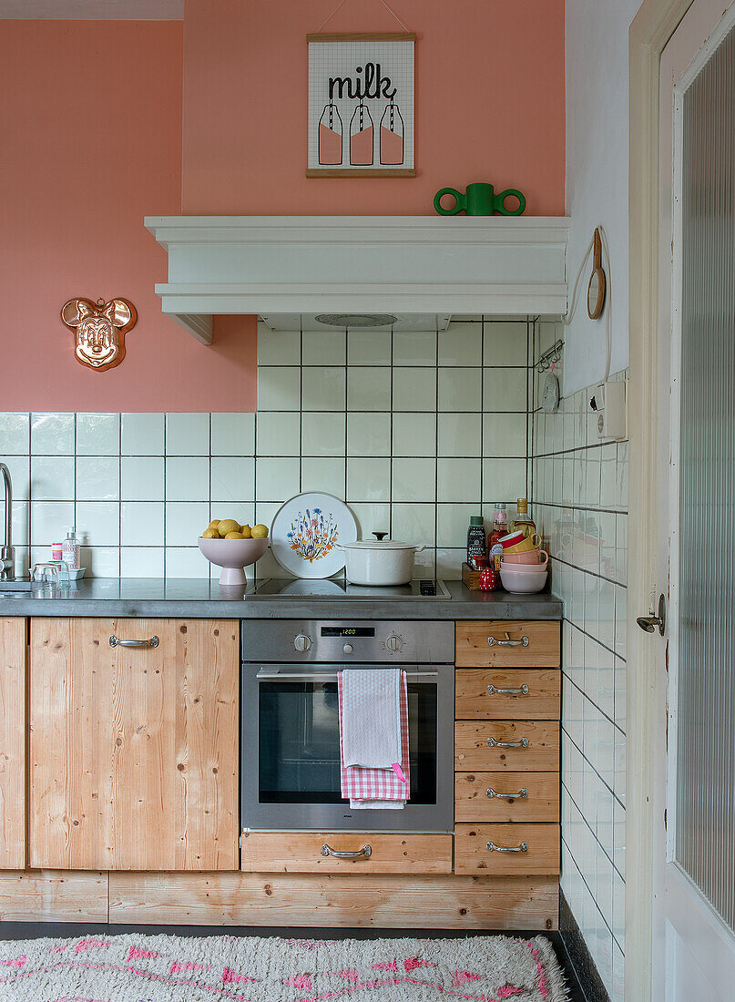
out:
{"label": "salmon-pink wall section around the copper Mickey Mouse mould", "polygon": [[[153,292],[167,261],[143,215],[180,211],[181,36],[180,22],[0,21],[3,411],[254,407],[252,319],[223,318],[204,348]],[[73,296],[135,304],[118,368],[75,361],[58,316]]]}

